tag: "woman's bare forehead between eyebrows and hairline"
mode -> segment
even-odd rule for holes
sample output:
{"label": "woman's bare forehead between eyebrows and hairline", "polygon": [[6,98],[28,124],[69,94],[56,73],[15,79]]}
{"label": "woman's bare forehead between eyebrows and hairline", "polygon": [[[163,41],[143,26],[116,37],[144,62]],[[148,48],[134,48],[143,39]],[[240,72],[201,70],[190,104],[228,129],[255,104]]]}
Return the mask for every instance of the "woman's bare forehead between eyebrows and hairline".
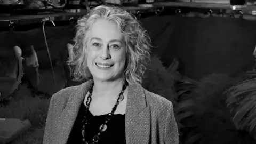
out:
{"label": "woman's bare forehead between eyebrows and hairline", "polygon": [[116,23],[100,19],[95,21],[91,27],[91,37],[101,39],[122,39],[122,33]]}

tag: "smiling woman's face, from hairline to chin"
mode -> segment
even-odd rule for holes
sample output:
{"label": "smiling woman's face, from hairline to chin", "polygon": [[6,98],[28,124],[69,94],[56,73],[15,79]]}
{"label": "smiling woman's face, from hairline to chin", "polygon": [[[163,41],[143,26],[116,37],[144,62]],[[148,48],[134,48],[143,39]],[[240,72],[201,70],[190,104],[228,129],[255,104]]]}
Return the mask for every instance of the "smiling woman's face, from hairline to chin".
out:
{"label": "smiling woman's face, from hairline to chin", "polygon": [[114,81],[123,76],[126,48],[117,25],[97,20],[90,30],[87,43],[87,66],[93,79]]}

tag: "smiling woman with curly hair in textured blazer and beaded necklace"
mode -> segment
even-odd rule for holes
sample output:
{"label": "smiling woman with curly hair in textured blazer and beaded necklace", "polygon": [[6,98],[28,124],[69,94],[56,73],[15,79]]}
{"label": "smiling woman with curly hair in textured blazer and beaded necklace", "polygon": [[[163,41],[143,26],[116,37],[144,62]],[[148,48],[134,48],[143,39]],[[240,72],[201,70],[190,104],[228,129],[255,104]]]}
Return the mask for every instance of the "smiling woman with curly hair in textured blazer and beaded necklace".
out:
{"label": "smiling woman with curly hair in textured blazer and beaded necklace", "polygon": [[172,103],[140,85],[150,40],[118,7],[78,20],[69,64],[77,81],[50,101],[43,143],[178,143]]}

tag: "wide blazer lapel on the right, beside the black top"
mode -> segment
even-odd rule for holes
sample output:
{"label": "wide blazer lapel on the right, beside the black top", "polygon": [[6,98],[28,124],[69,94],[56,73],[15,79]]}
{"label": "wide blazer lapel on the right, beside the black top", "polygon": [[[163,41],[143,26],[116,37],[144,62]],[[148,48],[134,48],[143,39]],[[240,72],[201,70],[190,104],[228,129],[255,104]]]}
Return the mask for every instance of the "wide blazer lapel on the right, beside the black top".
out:
{"label": "wide blazer lapel on the right, beside the black top", "polygon": [[150,126],[150,107],[143,88],[139,84],[130,85],[125,114],[126,143],[149,143]]}

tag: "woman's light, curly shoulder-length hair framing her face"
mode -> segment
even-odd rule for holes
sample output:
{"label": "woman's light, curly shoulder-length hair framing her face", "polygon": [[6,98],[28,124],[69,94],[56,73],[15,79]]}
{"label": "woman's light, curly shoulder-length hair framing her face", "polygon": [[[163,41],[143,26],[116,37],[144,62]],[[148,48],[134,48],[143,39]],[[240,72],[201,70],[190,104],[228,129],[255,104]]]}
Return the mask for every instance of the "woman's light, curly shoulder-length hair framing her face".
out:
{"label": "woman's light, curly shoulder-length hair framing her face", "polygon": [[142,78],[150,61],[151,40],[134,15],[121,7],[97,6],[78,20],[72,55],[68,60],[74,81],[86,81],[92,77],[86,64],[87,33],[98,19],[116,23],[126,44],[124,76],[129,84],[142,83]]}

